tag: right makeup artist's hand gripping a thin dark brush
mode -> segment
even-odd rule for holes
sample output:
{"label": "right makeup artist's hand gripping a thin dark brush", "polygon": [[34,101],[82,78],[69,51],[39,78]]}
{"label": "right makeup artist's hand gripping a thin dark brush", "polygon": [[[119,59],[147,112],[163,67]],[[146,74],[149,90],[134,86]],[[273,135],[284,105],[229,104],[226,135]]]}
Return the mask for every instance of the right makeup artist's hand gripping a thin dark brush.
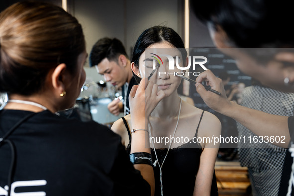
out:
{"label": "right makeup artist's hand gripping a thin dark brush", "polygon": [[[206,85],[209,85],[211,89],[219,91],[221,95],[217,95],[210,91],[207,91],[201,84],[206,81]],[[196,78],[196,90],[200,94],[201,98],[204,100],[206,105],[211,109],[223,113],[223,111],[230,107],[231,102],[228,100],[222,80],[217,78],[210,70],[206,70]]]}

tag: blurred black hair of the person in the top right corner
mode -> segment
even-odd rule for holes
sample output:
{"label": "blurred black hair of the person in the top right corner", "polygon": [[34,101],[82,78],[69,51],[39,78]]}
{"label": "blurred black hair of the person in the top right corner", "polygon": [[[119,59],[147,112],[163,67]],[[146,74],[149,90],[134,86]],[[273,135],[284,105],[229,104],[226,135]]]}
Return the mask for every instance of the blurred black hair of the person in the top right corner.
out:
{"label": "blurred black hair of the person in the top right corner", "polygon": [[[292,48],[289,0],[191,0],[191,8],[203,22],[221,26],[239,48]],[[216,28],[217,30],[217,28]]]}

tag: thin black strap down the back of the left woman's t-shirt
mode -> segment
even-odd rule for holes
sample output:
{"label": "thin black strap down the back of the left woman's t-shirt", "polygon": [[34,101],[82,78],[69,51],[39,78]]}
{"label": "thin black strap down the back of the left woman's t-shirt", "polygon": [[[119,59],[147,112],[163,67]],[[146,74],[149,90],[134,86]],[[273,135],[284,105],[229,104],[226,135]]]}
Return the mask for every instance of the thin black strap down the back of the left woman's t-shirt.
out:
{"label": "thin black strap down the back of the left woman's t-shirt", "polygon": [[2,146],[3,143],[8,143],[10,148],[11,148],[11,164],[10,164],[10,168],[9,168],[9,173],[8,173],[8,196],[11,195],[11,184],[12,184],[12,180],[13,180],[13,173],[14,173],[14,165],[15,165],[15,154],[16,154],[16,150],[15,150],[15,145],[14,143],[7,139],[9,135],[12,134],[13,131],[15,131],[15,129],[17,129],[23,122],[25,122],[26,120],[28,120],[30,117],[32,117],[33,115],[35,115],[36,113],[31,113],[27,116],[25,116],[24,118],[22,118],[20,121],[18,121],[3,137],[0,138],[0,147]]}

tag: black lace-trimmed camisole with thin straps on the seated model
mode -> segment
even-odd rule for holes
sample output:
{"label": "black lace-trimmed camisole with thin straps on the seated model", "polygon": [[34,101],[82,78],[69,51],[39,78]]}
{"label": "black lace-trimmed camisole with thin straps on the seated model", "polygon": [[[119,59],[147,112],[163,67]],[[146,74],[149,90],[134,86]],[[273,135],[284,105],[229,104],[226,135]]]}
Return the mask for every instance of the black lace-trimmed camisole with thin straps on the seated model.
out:
{"label": "black lace-trimmed camisole with thin straps on the seated model", "polygon": [[[198,136],[198,129],[202,120],[204,111],[201,114],[199,124],[194,137]],[[122,120],[126,126],[129,135],[127,152],[131,151],[131,133],[127,121]],[[162,164],[168,149],[156,149],[158,162]],[[201,144],[188,142],[177,148],[171,148],[162,166],[162,184],[164,196],[192,196],[196,175],[199,169],[200,156],[202,153]],[[153,161],[155,160],[154,150],[151,148]],[[155,196],[161,196],[159,166],[153,166],[155,177]],[[215,173],[213,174],[211,196],[218,196]]]}

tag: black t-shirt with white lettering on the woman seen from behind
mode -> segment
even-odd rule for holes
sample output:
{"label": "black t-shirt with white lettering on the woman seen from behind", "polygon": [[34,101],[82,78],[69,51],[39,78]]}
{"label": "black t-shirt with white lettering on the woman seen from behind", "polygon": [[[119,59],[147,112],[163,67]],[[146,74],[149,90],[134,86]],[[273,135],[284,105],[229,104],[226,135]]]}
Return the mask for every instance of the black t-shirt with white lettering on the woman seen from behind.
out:
{"label": "black t-shirt with white lettering on the woman seen from behind", "polygon": [[[30,113],[1,110],[0,137]],[[16,149],[11,186],[15,193],[150,195],[149,184],[134,169],[120,136],[96,122],[69,120],[43,111],[22,123],[8,139]],[[4,143],[0,147],[0,196],[7,195],[10,164],[11,149]]]}

